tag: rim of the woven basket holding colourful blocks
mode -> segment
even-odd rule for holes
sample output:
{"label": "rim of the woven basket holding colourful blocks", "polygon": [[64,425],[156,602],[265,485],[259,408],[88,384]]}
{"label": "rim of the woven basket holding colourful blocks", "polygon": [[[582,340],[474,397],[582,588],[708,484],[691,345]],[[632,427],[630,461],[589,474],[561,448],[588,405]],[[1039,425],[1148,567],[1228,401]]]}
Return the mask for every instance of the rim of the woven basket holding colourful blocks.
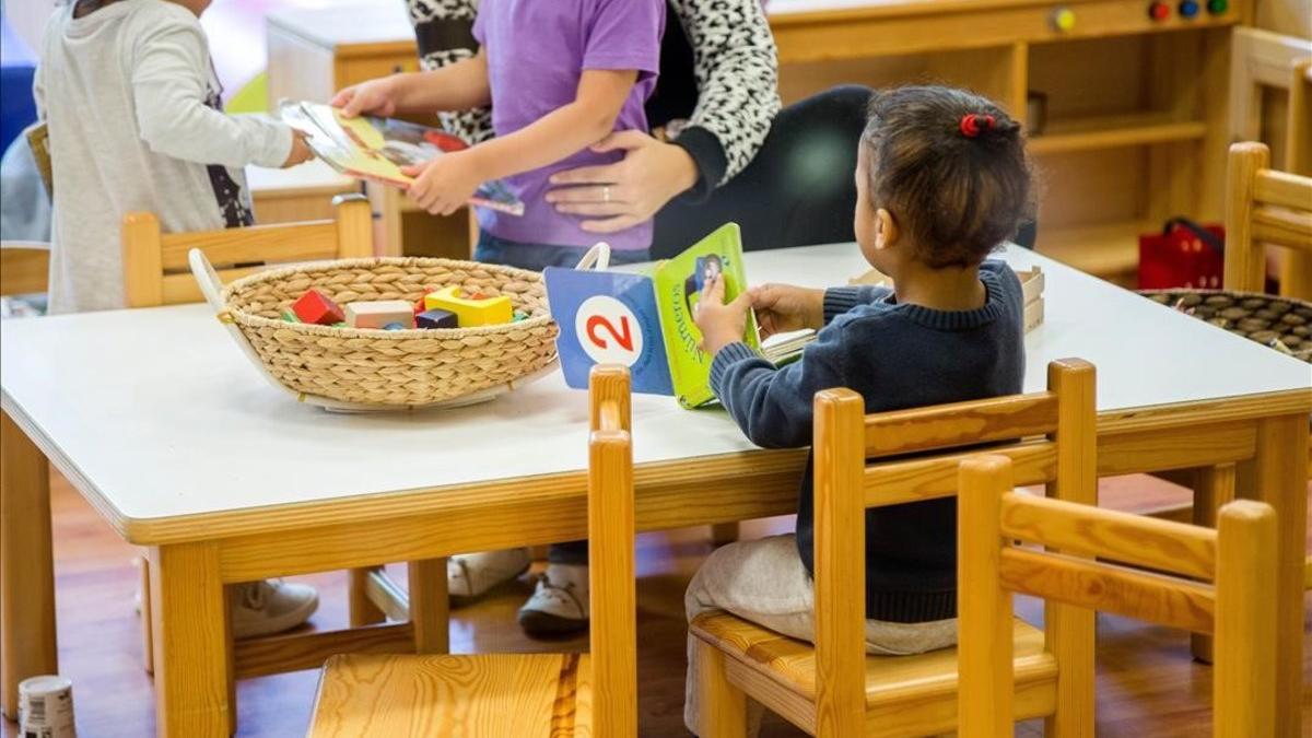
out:
{"label": "rim of the woven basket holding colourful blocks", "polygon": [[247,313],[240,307],[232,305],[232,294],[240,289],[245,289],[249,285],[255,285],[264,281],[282,280],[286,277],[297,274],[307,274],[315,272],[329,272],[337,269],[350,269],[350,268],[371,268],[371,267],[447,267],[447,268],[463,268],[463,269],[484,269],[491,272],[500,272],[505,276],[514,277],[526,282],[541,282],[542,273],[534,272],[531,269],[520,269],[517,267],[504,267],[501,264],[484,264],[482,261],[468,261],[462,259],[440,259],[430,256],[365,256],[359,259],[335,259],[331,261],[314,261],[307,264],[293,264],[286,267],[277,267],[273,269],[260,271],[253,274],[247,274],[239,280],[223,286],[223,309],[228,318],[236,323],[251,327],[269,327],[277,326],[291,331],[300,331],[310,335],[328,336],[328,337],[367,337],[367,339],[383,339],[383,340],[420,340],[420,339],[458,339],[467,336],[485,336],[510,331],[533,330],[541,326],[546,326],[554,322],[551,314],[538,315],[537,318],[527,318],[525,320],[517,320],[512,323],[499,323],[495,326],[474,326],[468,328],[404,328],[400,331],[387,331],[383,328],[356,328],[352,326],[319,326],[315,323],[289,323],[286,320],[264,318],[261,315],[255,315]]}

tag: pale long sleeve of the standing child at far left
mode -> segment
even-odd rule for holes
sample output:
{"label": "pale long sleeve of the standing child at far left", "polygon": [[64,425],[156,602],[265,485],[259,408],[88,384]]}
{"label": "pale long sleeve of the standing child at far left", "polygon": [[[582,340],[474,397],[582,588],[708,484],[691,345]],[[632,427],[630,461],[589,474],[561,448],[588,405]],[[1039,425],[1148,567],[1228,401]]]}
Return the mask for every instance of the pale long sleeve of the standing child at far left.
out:
{"label": "pale long sleeve of the standing child at far left", "polygon": [[157,154],[201,164],[289,163],[297,154],[289,126],[226,116],[206,105],[210,62],[203,32],[194,16],[180,11],[177,20],[146,29],[133,49],[133,97],[142,141]]}

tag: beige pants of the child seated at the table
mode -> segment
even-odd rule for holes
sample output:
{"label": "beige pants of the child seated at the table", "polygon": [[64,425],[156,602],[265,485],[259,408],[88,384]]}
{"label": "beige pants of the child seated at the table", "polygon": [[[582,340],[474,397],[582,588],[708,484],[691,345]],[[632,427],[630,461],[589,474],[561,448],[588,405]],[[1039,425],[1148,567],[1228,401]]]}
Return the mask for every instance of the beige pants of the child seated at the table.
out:
{"label": "beige pants of the child seated at the table", "polygon": [[[853,596],[859,596],[854,592]],[[708,609],[728,611],[803,641],[815,640],[815,599],[811,575],[798,555],[794,534],[739,541],[718,549],[693,576],[684,596],[689,622]],[[933,622],[866,621],[866,650],[871,654],[907,655],[956,643],[956,620]],[[687,637],[687,680],[684,722],[697,733],[697,649]],[[748,735],[761,726],[764,708],[748,700]]]}

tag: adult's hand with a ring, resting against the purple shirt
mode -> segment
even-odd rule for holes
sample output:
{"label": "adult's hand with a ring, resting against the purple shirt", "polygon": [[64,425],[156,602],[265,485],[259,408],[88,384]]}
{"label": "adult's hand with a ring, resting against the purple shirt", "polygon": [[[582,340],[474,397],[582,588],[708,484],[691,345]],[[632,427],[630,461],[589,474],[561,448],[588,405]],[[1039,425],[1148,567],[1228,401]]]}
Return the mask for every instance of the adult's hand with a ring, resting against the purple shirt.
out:
{"label": "adult's hand with a ring, resting against the purple shirt", "polygon": [[593,151],[625,151],[614,164],[556,172],[547,192],[560,213],[583,215],[585,231],[609,234],[651,219],[674,196],[697,184],[697,164],[680,146],[635,130],[601,139]]}

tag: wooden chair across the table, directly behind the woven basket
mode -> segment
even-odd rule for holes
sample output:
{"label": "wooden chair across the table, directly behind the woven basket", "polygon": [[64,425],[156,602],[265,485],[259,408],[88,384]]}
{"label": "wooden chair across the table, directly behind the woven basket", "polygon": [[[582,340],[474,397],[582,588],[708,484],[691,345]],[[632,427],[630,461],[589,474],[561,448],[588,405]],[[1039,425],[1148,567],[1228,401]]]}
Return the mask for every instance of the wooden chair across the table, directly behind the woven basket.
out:
{"label": "wooden chair across the table, directly behind the woven basket", "polygon": [[[361,194],[333,198],[332,221],[310,221],[247,228],[164,234],[152,213],[123,218],[122,248],[125,294],[130,307],[156,307],[197,302],[201,290],[188,267],[188,253],[199,248],[232,281],[261,268],[316,259],[353,259],[374,255],[373,213]],[[417,653],[440,653],[447,645],[445,559],[409,562],[409,594],[396,587],[380,567],[349,571],[350,626],[382,622],[388,616],[415,626]],[[150,592],[150,569],[142,566],[142,592]],[[411,607],[416,604],[417,607]],[[150,596],[142,597],[146,667],[151,659]],[[244,641],[255,643],[258,638]],[[237,649],[240,661],[243,649]],[[240,664],[239,664],[240,667]],[[278,671],[277,664],[261,674]],[[303,668],[289,664],[287,668]],[[241,671],[239,668],[239,671]]]}

